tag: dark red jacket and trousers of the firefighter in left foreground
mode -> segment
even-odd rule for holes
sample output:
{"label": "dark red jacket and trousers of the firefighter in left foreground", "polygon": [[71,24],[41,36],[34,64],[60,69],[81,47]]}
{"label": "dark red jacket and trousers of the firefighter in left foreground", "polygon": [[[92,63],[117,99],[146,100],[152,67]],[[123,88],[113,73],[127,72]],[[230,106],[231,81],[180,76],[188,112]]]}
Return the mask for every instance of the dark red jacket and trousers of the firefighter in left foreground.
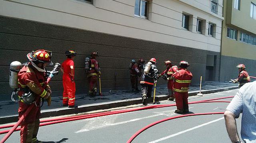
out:
{"label": "dark red jacket and trousers of the firefighter in left foreground", "polygon": [[39,129],[39,116],[40,116],[40,99],[46,96],[47,89],[50,86],[42,88],[44,82],[46,82],[45,72],[40,72],[32,66],[31,63],[26,64],[18,73],[18,87],[21,88],[18,92],[18,96],[22,96],[25,92],[33,92],[35,95],[34,103],[25,104],[23,100],[19,102],[19,118],[26,112],[26,110],[33,106],[32,110],[20,123],[20,143],[31,143],[37,140],[36,136]]}

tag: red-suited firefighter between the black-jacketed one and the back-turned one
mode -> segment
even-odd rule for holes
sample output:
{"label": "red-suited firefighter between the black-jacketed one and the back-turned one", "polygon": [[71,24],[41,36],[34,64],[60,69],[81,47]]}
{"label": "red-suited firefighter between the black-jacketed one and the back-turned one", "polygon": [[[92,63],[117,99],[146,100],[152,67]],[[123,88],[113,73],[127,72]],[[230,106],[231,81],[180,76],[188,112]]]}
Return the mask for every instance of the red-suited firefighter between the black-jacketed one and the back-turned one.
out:
{"label": "red-suited firefighter between the black-jacketed one and the back-turned one", "polygon": [[174,71],[172,71],[172,62],[171,61],[164,61],[164,65],[166,66],[166,70],[163,71],[160,76],[162,76],[165,80],[168,80],[168,94],[169,94],[169,98],[167,100],[172,100],[175,102],[175,98],[173,96],[173,84],[174,84],[174,80],[172,78],[172,74],[174,73]]}

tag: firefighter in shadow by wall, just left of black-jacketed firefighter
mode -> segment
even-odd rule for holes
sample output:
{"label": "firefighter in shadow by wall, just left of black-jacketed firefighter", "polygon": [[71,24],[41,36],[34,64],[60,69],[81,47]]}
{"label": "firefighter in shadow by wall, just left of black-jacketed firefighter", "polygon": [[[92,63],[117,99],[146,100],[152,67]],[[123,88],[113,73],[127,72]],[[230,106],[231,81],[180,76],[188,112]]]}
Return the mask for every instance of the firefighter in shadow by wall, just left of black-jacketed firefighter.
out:
{"label": "firefighter in shadow by wall, just left of black-jacketed firefighter", "polygon": [[138,61],[132,64],[130,69],[130,79],[132,84],[132,91],[140,91],[138,89],[138,78],[141,76],[142,73],[142,66],[144,65],[144,59],[138,59]]}

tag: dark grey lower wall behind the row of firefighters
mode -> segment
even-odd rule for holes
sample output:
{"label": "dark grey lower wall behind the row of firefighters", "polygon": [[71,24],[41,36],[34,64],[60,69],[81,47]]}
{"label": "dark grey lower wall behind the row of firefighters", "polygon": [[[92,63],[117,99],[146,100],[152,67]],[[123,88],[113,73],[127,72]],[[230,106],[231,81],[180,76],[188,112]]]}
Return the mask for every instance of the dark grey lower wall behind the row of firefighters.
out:
{"label": "dark grey lower wall behind the row of firefighters", "polygon": [[[164,61],[171,60],[178,64],[181,60],[190,63],[189,70],[194,77],[192,84],[198,84],[200,76],[206,75],[206,55],[216,55],[219,69],[220,53],[194,49],[189,47],[164,44],[141,39],[98,33],[82,29],[63,27],[41,22],[20,20],[0,16],[0,79],[1,94],[8,94],[11,89],[9,81],[9,65],[12,61],[27,62],[26,54],[36,49],[47,49],[53,52],[52,61],[62,63],[65,60],[64,52],[74,49],[78,52],[75,58],[75,81],[76,89],[86,93],[87,80],[84,70],[84,58],[92,51],[99,51],[98,61],[102,67],[102,87],[114,88],[114,73],[118,87],[130,86],[128,65],[132,59],[152,57],[157,59],[159,71],[163,71]],[[48,69],[51,69],[49,67]],[[219,74],[216,73],[216,80]],[[203,78],[204,79],[204,78]],[[203,81],[204,82],[204,81]],[[159,80],[159,84],[166,84]],[[50,83],[52,89],[60,95],[62,91],[62,75],[55,76]]]}

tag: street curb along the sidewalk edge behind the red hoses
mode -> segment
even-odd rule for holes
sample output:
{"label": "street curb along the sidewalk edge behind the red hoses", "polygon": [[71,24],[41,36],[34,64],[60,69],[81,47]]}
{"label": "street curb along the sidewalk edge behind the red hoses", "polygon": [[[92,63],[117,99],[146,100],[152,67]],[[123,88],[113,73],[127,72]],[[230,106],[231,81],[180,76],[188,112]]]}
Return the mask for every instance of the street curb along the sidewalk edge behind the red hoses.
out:
{"label": "street curb along the sidewalk edge behind the red hoses", "polygon": [[[227,91],[227,90],[233,90],[237,89],[238,86],[233,86],[233,87],[227,87],[227,88],[217,88],[213,90],[202,90],[202,94],[210,94],[210,93],[215,93],[215,92],[222,92],[222,91]],[[193,92],[188,92],[188,96],[196,96],[199,93],[199,91],[193,91]],[[155,97],[155,101],[162,101],[162,100],[167,100],[168,96],[167,95],[158,95]],[[147,102],[153,102],[153,97],[148,98]],[[141,98],[133,98],[133,99],[126,99],[126,100],[117,100],[117,101],[112,101],[112,102],[102,102],[102,103],[97,103],[97,104],[88,104],[88,105],[82,105],[79,106],[79,108],[58,108],[56,110],[44,110],[41,111],[41,116],[40,118],[48,118],[48,117],[55,117],[55,116],[63,116],[63,115],[70,115],[70,114],[78,114],[78,113],[83,113],[83,112],[89,112],[89,111],[94,111],[94,110],[104,110],[104,109],[110,109],[110,108],[117,108],[121,106],[130,106],[134,104],[141,104],[142,99]],[[18,115],[16,116],[7,116],[4,118],[0,118],[0,124],[4,123],[12,123],[12,122],[17,122],[18,121]]]}

